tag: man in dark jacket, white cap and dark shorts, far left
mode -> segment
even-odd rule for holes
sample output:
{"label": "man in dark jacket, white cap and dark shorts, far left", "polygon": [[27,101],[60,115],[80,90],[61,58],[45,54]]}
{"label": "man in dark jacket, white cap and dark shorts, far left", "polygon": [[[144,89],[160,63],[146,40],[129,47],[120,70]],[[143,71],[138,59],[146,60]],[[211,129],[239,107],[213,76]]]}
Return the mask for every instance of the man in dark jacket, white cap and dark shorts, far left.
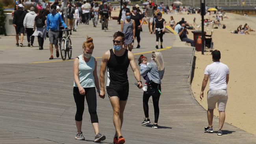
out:
{"label": "man in dark jacket, white cap and dark shorts, far left", "polygon": [[[23,46],[23,37],[24,37],[24,26],[23,21],[26,16],[26,11],[23,10],[23,5],[18,5],[18,10],[13,13],[13,26],[16,31],[16,46]],[[20,34],[20,45],[19,45],[19,34]]]}

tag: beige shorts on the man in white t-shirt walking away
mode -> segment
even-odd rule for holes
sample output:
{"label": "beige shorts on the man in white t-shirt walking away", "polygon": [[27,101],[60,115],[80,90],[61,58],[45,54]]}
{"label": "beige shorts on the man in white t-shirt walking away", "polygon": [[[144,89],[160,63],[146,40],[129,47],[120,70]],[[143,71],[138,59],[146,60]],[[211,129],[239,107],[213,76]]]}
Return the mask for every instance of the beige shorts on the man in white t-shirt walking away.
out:
{"label": "beige shorts on the man in white t-shirt walking away", "polygon": [[225,111],[228,102],[228,92],[224,89],[209,90],[207,93],[208,109],[215,109],[218,102],[219,111]]}

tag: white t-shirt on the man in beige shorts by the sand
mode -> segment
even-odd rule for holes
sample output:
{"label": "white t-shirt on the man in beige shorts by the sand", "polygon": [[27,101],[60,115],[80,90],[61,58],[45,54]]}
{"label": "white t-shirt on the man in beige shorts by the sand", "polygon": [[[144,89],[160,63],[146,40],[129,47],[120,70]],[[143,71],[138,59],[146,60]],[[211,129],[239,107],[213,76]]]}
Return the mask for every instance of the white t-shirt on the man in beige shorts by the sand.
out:
{"label": "white t-shirt on the man in beige shorts by the sand", "polygon": [[209,74],[210,90],[227,89],[226,75],[229,74],[229,68],[224,63],[213,62],[206,66],[204,74]]}

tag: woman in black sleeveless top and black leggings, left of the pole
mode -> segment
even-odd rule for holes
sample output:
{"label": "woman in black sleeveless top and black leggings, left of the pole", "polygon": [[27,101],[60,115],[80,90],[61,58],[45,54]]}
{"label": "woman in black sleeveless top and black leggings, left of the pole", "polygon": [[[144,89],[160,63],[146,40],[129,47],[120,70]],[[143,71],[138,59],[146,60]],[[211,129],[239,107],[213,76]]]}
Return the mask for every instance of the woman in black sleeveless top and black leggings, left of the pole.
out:
{"label": "woman in black sleeveless top and black leggings, left of the pole", "polygon": [[155,21],[154,33],[156,33],[156,48],[158,49],[158,41],[160,38],[161,48],[163,48],[163,34],[165,31],[165,19],[162,18],[162,13],[157,14],[158,19]]}

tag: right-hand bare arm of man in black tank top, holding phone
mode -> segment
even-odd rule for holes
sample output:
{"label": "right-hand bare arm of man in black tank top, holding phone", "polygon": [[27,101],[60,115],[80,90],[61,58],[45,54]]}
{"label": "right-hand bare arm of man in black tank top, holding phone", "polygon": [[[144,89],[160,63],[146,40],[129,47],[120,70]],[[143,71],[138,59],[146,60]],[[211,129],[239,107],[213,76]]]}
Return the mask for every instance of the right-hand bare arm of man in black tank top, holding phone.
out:
{"label": "right-hand bare arm of man in black tank top, holding phone", "polygon": [[141,84],[141,75],[139,74],[139,69],[137,68],[137,65],[135,63],[135,58],[134,58],[134,54],[132,54],[132,52],[128,51],[128,58],[130,60],[130,65],[132,67],[132,71],[134,72],[134,77],[138,82],[139,86],[138,88],[141,89],[142,88],[142,84]]}

